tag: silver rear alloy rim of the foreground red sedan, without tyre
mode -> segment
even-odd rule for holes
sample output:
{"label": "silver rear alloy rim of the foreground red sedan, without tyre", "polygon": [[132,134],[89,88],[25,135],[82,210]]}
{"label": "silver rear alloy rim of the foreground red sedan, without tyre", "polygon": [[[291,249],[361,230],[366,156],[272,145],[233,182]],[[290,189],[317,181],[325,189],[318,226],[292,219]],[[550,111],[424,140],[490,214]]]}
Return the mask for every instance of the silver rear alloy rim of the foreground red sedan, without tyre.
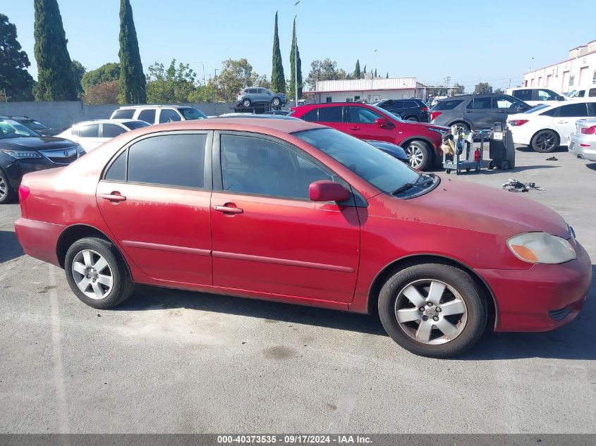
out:
{"label": "silver rear alloy rim of the foreground red sedan, without tyre", "polygon": [[91,249],[83,249],[73,260],[73,278],[78,289],[90,299],[103,299],[114,284],[106,259]]}

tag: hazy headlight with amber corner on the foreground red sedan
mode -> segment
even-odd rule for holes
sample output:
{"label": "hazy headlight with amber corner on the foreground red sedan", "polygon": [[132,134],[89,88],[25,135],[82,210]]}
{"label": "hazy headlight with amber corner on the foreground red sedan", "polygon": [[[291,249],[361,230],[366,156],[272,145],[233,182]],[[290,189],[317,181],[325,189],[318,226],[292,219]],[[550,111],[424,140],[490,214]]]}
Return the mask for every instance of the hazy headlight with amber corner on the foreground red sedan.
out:
{"label": "hazy headlight with amber corner on the foreground red sedan", "polygon": [[576,259],[576,250],[561,237],[547,233],[523,233],[507,240],[513,255],[530,264],[563,264]]}

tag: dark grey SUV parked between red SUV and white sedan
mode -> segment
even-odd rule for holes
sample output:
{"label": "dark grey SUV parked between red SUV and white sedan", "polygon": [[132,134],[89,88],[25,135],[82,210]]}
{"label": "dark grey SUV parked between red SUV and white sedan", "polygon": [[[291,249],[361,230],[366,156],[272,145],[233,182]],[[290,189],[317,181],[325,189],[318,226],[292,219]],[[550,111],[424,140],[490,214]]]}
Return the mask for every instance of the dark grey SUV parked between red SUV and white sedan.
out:
{"label": "dark grey SUV parked between red SUV and white sedan", "polygon": [[449,127],[459,125],[466,131],[483,130],[494,123],[504,126],[508,115],[531,108],[509,94],[462,94],[437,102],[430,109],[430,122]]}

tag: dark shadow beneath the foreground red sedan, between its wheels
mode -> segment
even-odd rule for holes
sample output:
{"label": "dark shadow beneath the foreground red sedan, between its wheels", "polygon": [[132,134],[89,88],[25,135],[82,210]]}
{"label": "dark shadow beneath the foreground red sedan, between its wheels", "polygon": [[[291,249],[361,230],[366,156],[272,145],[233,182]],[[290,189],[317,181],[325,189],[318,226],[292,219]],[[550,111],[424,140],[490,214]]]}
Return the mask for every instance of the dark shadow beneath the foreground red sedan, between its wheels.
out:
{"label": "dark shadow beneath the foreground red sedan, between its wheels", "polygon": [[265,321],[291,321],[292,323],[302,323],[310,326],[387,336],[379,318],[366,314],[346,313],[311,306],[212,295],[147,285],[138,285],[130,299],[112,310],[143,311],[146,309],[178,308],[248,316],[264,319]]}

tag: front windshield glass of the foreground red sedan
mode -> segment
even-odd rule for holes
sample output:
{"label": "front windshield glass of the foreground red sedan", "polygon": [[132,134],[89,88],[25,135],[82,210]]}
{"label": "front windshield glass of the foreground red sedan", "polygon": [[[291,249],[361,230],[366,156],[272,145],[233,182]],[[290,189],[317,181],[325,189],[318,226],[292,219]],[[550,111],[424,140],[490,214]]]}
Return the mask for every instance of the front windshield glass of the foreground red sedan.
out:
{"label": "front windshield glass of the foreground red sedan", "polygon": [[420,173],[367,142],[357,140],[332,128],[306,130],[294,136],[308,142],[324,154],[346,166],[377,189],[391,194],[403,185],[415,182]]}

